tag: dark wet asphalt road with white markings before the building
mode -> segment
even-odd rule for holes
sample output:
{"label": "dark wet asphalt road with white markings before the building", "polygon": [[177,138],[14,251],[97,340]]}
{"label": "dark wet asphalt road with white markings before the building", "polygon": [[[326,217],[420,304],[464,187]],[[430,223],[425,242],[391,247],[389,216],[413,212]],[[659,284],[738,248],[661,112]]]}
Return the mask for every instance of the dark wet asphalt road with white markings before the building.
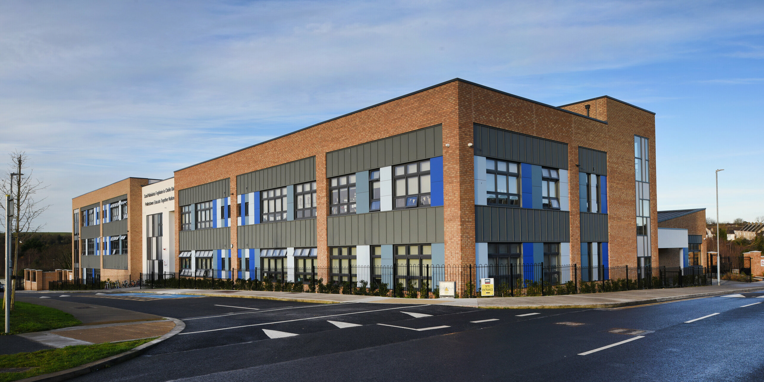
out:
{"label": "dark wet asphalt road with white markings before the building", "polygon": [[764,379],[764,293],[529,310],[47,296],[186,322],[141,357],[77,381]]}

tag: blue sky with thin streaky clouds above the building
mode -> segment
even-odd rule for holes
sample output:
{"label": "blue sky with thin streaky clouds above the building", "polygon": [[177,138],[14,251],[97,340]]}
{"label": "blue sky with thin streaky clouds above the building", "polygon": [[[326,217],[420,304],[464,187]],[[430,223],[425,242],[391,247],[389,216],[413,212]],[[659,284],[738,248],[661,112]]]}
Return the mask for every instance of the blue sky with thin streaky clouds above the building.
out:
{"label": "blue sky with thin streaky clouds above the building", "polygon": [[[0,154],[71,198],[461,77],[656,112],[659,209],[764,215],[764,2],[0,3]],[[0,155],[2,156],[2,155]],[[2,158],[0,158],[2,161]]]}

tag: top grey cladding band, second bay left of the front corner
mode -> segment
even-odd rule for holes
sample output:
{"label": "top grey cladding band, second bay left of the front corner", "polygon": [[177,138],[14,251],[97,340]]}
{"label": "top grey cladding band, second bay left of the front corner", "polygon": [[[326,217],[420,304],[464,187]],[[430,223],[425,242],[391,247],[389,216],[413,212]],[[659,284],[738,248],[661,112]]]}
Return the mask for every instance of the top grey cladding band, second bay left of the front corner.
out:
{"label": "top grey cladding band, second bay left of the front corner", "polygon": [[316,157],[295,160],[236,176],[236,194],[316,180]]}

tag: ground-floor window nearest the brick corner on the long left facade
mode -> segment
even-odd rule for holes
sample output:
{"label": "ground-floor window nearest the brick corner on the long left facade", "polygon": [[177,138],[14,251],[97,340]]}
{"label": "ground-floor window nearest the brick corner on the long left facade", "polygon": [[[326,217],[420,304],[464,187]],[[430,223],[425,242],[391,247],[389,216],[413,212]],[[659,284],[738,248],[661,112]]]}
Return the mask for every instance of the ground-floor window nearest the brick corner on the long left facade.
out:
{"label": "ground-floor window nearest the brick corner on the long left facade", "polygon": [[432,245],[396,245],[395,249],[395,280],[403,287],[419,288],[422,283],[428,283],[432,277]]}

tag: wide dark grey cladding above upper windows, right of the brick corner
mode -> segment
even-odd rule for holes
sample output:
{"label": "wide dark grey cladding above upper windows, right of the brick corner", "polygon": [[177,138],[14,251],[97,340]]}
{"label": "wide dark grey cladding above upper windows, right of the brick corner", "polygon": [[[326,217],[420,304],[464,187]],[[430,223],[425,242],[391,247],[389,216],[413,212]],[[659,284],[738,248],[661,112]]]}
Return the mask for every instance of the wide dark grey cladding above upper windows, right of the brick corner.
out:
{"label": "wide dark grey cladding above upper windows, right of the brick corner", "polygon": [[474,154],[568,170],[568,144],[474,125]]}

